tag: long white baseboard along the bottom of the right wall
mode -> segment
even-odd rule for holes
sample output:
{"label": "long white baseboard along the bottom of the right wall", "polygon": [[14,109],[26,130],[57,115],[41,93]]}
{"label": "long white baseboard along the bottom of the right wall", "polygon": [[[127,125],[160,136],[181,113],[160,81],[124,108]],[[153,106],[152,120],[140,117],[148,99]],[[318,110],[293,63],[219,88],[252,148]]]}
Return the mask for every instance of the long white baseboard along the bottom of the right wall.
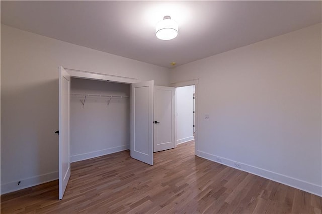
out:
{"label": "long white baseboard along the bottom of the right wall", "polygon": [[[313,184],[313,183],[309,183],[303,180],[299,180],[296,178],[292,178],[286,175],[282,175],[276,172],[272,172],[269,170],[265,170],[265,169],[261,169],[255,166],[251,166],[248,164],[244,164],[244,163],[239,163],[227,158],[223,158],[223,157],[219,157],[219,156],[215,156],[212,154],[209,154],[207,152],[202,152],[202,151],[197,151],[197,156],[201,157],[201,158],[205,158],[207,160],[211,160],[235,169],[239,169],[241,171],[245,171],[245,172],[249,172],[251,174],[254,175],[258,175],[260,177],[264,177],[267,178],[269,180],[273,180],[276,181],[278,183],[282,183],[309,193],[312,193],[314,195],[318,195],[320,197],[322,197],[322,186]],[[237,164],[238,166],[236,166],[235,164]],[[240,166],[240,167],[239,167]]]}

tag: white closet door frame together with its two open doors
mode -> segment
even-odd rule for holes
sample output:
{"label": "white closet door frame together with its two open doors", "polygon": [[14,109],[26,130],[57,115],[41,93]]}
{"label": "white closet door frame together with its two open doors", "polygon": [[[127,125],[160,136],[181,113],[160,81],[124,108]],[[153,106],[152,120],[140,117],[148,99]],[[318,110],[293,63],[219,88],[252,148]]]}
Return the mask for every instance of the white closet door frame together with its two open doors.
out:
{"label": "white closet door frame together with its two open doors", "polygon": [[[154,81],[97,74],[59,67],[59,199],[70,177],[70,81],[71,77],[131,84],[131,157],[153,165],[153,87]],[[85,99],[81,102],[85,103]]]}

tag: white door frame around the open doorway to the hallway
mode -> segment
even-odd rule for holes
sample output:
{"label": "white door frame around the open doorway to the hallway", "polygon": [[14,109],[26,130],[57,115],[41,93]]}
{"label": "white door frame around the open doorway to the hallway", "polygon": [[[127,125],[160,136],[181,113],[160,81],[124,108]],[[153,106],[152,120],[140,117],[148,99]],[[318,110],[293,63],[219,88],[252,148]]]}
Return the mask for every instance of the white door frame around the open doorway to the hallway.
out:
{"label": "white door frame around the open doorway to the hallway", "polygon": [[[185,86],[195,86],[195,155],[198,154],[198,130],[199,130],[199,125],[198,125],[198,82],[199,79],[192,79],[192,80],[187,80],[187,81],[182,81],[182,82],[174,82],[171,83],[171,87],[185,87]],[[176,105],[176,101],[175,101]],[[177,117],[175,116],[175,146],[177,147]]]}

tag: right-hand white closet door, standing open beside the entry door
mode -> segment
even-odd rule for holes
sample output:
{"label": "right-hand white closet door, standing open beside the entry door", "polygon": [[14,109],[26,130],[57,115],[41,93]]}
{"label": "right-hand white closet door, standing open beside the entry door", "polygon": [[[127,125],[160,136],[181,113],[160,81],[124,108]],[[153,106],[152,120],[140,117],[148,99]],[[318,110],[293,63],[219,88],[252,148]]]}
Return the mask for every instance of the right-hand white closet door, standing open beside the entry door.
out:
{"label": "right-hand white closet door, standing open beside the entry door", "polygon": [[131,157],[153,165],[154,81],[131,85]]}

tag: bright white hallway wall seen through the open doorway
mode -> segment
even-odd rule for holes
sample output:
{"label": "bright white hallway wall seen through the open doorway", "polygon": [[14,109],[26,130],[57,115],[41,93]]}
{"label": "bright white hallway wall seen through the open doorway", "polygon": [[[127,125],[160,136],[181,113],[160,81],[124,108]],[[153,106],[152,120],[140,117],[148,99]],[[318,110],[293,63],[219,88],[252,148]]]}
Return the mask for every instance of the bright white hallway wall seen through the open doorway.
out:
{"label": "bright white hallway wall seen through the open doorway", "polygon": [[176,88],[177,144],[193,140],[194,85]]}

